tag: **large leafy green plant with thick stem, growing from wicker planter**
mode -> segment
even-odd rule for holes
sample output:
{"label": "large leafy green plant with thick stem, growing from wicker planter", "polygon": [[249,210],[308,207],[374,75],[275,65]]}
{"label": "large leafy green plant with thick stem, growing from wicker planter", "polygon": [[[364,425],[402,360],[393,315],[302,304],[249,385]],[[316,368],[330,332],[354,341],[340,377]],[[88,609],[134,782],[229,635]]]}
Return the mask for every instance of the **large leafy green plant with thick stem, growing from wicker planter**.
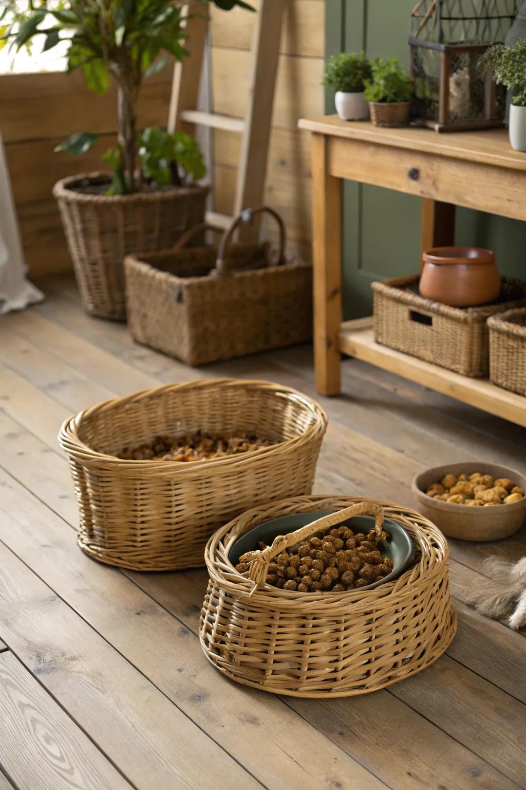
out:
{"label": "large leafy green plant with thick stem, growing from wicker planter", "polygon": [[[243,0],[198,2],[203,10],[197,13],[207,13],[211,2],[225,10],[251,9]],[[162,69],[170,55],[177,60],[189,55],[183,0],[6,0],[0,23],[0,37],[17,49],[35,36],[45,36],[44,51],[66,40],[68,71],[82,70],[91,90],[104,94],[111,81],[116,85],[118,145],[105,154],[114,171],[114,194],[135,192],[143,181],[181,183],[181,170],[194,179],[203,176],[203,160],[191,137],[160,129],[139,136],[136,124],[144,78]],[[58,149],[83,153],[96,139],[76,134]]]}

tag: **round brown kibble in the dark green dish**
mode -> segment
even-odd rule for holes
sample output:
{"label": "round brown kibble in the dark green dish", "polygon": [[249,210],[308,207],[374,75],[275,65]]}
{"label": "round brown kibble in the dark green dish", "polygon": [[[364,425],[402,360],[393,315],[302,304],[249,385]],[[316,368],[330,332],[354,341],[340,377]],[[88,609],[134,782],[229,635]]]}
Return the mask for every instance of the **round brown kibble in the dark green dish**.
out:
{"label": "round brown kibble in the dark green dish", "polygon": [[[322,537],[302,540],[294,551],[282,551],[269,562],[267,584],[297,592],[343,592],[366,587],[393,570],[393,560],[382,555],[386,540],[390,540],[390,534],[385,530],[378,536],[375,529],[367,535],[355,535],[349,527],[331,529]],[[241,555],[236,566],[240,574],[248,576],[256,553]]]}

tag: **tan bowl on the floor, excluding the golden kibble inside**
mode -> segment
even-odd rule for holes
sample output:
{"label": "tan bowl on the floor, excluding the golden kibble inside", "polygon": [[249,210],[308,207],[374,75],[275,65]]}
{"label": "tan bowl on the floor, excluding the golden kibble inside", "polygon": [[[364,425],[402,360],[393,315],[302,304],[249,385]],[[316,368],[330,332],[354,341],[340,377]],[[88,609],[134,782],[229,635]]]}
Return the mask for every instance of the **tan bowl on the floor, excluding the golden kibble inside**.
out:
{"label": "tan bowl on the floor, excluding the golden kibble inside", "polygon": [[433,499],[427,496],[427,488],[431,483],[438,483],[444,475],[451,472],[460,475],[463,472],[471,475],[481,472],[483,475],[508,477],[515,485],[526,491],[526,476],[515,469],[498,464],[484,464],[481,461],[464,461],[458,464],[435,466],[416,475],[411,483],[413,496],[418,503],[417,510],[423,516],[433,521],[444,535],[461,540],[501,540],[517,532],[526,518],[526,497],[510,505],[495,505],[494,507],[472,507],[469,505],[454,505]]}

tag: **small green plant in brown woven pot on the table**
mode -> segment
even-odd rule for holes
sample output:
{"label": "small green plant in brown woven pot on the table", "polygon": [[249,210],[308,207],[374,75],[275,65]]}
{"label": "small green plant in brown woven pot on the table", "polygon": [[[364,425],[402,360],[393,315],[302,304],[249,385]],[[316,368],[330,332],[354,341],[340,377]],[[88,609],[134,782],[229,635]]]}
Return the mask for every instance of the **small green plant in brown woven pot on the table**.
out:
{"label": "small green plant in brown woven pot on the table", "polygon": [[398,58],[375,58],[372,77],[365,81],[365,98],[375,126],[407,126],[412,82]]}

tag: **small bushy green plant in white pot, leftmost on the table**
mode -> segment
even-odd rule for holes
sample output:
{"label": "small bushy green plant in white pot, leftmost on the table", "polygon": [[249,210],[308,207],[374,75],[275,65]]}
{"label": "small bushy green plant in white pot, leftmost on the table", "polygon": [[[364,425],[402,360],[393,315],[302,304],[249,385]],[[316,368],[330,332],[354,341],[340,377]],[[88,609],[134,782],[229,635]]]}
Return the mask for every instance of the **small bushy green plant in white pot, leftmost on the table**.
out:
{"label": "small bushy green plant in white pot, leftmost on the table", "polygon": [[364,99],[364,81],[371,77],[371,63],[364,52],[341,52],[328,58],[323,85],[336,91],[334,104],[342,121],[367,121],[369,105]]}

